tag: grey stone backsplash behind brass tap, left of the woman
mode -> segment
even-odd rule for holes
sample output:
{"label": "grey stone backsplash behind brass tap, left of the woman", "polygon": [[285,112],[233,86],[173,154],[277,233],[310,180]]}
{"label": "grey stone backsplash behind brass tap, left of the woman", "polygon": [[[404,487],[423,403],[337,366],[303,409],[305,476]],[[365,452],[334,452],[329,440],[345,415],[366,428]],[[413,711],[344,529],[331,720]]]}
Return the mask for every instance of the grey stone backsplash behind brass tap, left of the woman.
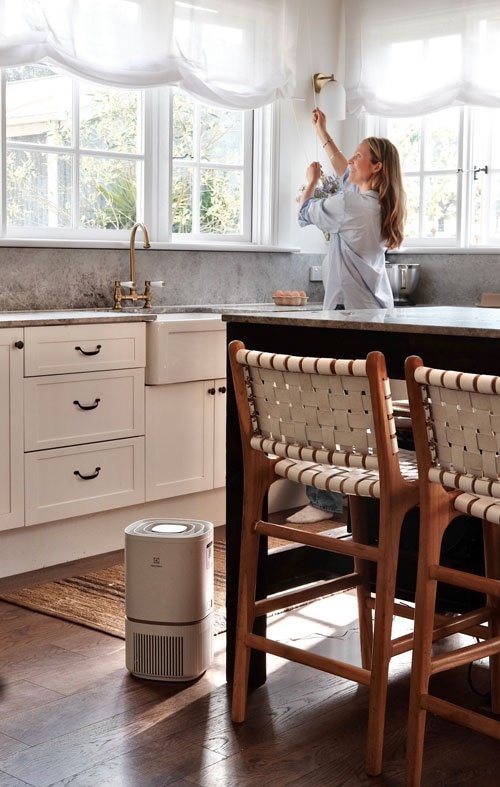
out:
{"label": "grey stone backsplash behind brass tap, left of the woman", "polygon": [[[319,259],[319,263],[318,263]],[[137,247],[137,289],[154,306],[270,302],[277,289],[323,298],[309,267],[321,256],[289,252],[144,250]],[[0,310],[112,308],[115,279],[129,279],[128,249],[0,248]],[[139,304],[142,305],[142,304]]]}

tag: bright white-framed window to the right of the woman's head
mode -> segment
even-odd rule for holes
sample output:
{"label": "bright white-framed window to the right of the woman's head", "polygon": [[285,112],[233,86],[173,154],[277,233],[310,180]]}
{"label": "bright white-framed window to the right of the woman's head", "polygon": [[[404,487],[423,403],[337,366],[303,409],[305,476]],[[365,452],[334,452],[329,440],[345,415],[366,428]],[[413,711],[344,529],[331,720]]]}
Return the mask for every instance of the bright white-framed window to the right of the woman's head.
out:
{"label": "bright white-framed window to the right of the woman's head", "polygon": [[[405,246],[500,246],[500,110],[452,107],[423,117],[371,118],[401,157]],[[369,132],[372,133],[372,132]]]}

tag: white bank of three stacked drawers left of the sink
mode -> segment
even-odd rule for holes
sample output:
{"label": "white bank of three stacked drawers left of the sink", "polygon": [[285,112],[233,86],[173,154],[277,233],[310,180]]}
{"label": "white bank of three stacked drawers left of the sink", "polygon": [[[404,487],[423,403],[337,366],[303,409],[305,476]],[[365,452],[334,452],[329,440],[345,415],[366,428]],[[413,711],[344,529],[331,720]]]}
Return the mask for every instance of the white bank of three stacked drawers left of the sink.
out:
{"label": "white bank of three stacked drawers left of the sink", "polygon": [[25,523],[144,501],[145,325],[25,329]]}

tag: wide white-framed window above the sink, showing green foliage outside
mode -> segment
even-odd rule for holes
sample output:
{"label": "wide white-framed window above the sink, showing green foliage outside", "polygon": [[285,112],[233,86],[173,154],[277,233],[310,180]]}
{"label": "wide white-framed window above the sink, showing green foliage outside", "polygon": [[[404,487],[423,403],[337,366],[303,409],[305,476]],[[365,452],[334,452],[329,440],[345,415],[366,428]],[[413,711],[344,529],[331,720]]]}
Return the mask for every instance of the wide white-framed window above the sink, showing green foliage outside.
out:
{"label": "wide white-framed window above the sink, showing green foliage outside", "polygon": [[2,70],[5,238],[251,241],[253,113]]}

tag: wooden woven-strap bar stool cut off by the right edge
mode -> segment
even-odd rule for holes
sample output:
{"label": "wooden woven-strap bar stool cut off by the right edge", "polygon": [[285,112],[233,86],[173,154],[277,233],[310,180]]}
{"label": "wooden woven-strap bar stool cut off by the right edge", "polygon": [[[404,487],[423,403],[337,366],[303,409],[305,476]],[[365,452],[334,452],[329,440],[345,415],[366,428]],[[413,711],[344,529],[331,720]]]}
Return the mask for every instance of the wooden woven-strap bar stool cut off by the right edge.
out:
{"label": "wooden woven-strap bar stool cut off by the right edge", "polygon": [[[500,377],[431,369],[407,358],[413,434],[420,477],[420,539],[408,719],[407,785],[422,776],[427,712],[500,739],[500,721],[433,696],[430,679],[489,657],[492,710],[500,712]],[[485,576],[442,565],[448,525],[464,514],[482,520]],[[437,583],[484,594],[485,606],[433,622]],[[484,625],[486,623],[486,625]],[[433,641],[468,633],[476,642]]]}

